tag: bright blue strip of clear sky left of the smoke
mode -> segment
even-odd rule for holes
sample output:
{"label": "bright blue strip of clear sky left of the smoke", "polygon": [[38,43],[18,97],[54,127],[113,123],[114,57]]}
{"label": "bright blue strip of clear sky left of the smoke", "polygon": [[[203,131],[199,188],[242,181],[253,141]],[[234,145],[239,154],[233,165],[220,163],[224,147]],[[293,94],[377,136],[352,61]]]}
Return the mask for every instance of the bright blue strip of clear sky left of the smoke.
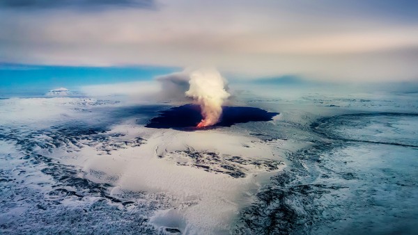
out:
{"label": "bright blue strip of clear sky left of the smoke", "polygon": [[43,94],[54,88],[77,90],[81,86],[130,81],[149,81],[180,71],[176,67],[70,67],[0,64],[0,96],[17,93]]}

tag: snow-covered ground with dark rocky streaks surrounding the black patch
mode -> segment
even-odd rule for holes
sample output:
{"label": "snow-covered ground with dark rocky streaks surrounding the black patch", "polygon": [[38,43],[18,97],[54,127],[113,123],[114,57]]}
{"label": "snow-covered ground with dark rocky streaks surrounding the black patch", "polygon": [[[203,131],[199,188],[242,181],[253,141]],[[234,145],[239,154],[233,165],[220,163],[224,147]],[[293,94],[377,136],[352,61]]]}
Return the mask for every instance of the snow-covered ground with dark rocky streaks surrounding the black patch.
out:
{"label": "snow-covered ground with dark rocky streaks surrounding the black patch", "polygon": [[3,234],[417,234],[418,99],[235,97],[280,113],[201,131],[168,104],[0,99]]}

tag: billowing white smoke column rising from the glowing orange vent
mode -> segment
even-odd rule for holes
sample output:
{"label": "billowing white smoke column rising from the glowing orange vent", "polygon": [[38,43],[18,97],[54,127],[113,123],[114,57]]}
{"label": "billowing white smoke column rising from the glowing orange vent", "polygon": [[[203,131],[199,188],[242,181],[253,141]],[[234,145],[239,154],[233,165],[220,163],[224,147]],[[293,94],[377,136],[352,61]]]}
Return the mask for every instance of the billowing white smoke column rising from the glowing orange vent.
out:
{"label": "billowing white smoke column rising from the glowing orange vent", "polygon": [[222,104],[229,97],[225,90],[226,80],[217,70],[205,69],[191,72],[189,84],[186,95],[195,99],[201,106],[203,116],[197,127],[217,124],[222,115]]}

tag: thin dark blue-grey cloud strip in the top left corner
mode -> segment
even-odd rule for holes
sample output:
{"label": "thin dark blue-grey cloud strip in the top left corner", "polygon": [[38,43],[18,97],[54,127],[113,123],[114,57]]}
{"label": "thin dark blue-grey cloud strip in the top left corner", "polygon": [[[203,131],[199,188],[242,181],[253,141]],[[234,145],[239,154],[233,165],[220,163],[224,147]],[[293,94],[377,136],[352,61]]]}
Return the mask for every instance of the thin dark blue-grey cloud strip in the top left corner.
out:
{"label": "thin dark blue-grey cloud strip in the top left corner", "polygon": [[0,6],[6,8],[45,9],[45,8],[94,8],[98,6],[130,6],[139,8],[153,8],[153,0],[2,0]]}

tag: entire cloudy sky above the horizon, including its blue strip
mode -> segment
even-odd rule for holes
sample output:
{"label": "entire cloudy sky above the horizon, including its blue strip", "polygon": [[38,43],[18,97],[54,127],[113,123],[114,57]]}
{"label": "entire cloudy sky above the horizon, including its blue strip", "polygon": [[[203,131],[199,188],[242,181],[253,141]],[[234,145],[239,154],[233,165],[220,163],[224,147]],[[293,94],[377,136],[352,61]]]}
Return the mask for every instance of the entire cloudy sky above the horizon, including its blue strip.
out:
{"label": "entire cloudy sky above the horizon, including its blue strip", "polygon": [[242,81],[418,81],[416,9],[414,0],[1,0],[0,86],[207,65]]}

